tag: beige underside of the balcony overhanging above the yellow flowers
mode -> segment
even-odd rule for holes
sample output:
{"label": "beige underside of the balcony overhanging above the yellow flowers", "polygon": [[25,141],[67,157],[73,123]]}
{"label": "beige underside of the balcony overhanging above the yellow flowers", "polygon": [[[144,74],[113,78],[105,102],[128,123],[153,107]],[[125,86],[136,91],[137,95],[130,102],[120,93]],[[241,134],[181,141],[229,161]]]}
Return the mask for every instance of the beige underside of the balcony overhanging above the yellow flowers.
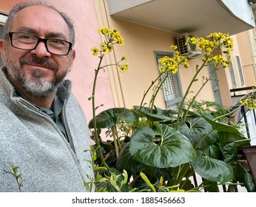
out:
{"label": "beige underside of the balcony overhanging above the yellow flowers", "polygon": [[[115,7],[120,2],[110,1]],[[205,36],[221,32],[233,35],[254,28],[235,16],[220,0],[144,0],[144,4],[118,11],[112,10],[112,5],[108,6],[114,18],[178,34]],[[247,15],[254,18],[252,14]]]}

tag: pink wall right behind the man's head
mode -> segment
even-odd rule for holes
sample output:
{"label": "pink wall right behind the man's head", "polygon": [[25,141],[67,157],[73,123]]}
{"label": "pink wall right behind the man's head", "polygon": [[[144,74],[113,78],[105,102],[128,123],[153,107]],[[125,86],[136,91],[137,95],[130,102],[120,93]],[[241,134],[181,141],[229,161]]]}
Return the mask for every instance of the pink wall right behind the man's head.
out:
{"label": "pink wall right behind the man's head", "polygon": [[[75,47],[76,58],[73,70],[68,75],[68,78],[73,81],[73,93],[78,98],[79,103],[84,109],[87,121],[92,118],[90,97],[92,92],[92,84],[94,78],[94,69],[98,64],[98,58],[91,55],[90,48],[98,47],[101,43],[101,36],[98,34],[98,21],[95,13],[95,5],[93,0],[48,0],[58,9],[67,13],[73,18],[75,24]],[[9,11],[10,7],[17,3],[17,0],[0,0],[0,10]],[[113,107],[112,91],[107,70],[102,72],[98,78],[96,92],[96,105],[104,104],[98,109],[98,112],[103,109]]]}

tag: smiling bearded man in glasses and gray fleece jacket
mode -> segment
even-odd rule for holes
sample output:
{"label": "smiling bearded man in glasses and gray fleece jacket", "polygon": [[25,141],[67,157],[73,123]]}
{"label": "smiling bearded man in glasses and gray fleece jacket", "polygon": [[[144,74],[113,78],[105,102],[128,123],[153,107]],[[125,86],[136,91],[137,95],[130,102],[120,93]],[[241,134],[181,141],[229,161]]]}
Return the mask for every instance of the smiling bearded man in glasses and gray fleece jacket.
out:
{"label": "smiling bearded man in glasses and gray fleece jacket", "polygon": [[10,11],[0,41],[0,191],[89,191],[90,135],[63,81],[74,41],[70,18],[49,3]]}

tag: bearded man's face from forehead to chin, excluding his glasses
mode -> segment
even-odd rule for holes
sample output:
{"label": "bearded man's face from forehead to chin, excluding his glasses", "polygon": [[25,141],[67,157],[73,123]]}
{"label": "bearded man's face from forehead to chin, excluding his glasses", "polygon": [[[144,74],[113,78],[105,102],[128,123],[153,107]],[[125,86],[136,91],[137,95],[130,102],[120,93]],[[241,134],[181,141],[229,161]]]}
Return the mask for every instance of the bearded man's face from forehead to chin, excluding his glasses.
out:
{"label": "bearded man's face from forehead to chin, excluding his glasses", "polygon": [[[64,19],[50,8],[31,6],[19,11],[11,32],[36,35],[39,38],[59,38],[70,41],[70,33]],[[37,98],[53,95],[58,85],[72,68],[75,51],[68,55],[47,52],[44,42],[35,50],[20,50],[10,44],[4,49],[7,74],[21,92]]]}

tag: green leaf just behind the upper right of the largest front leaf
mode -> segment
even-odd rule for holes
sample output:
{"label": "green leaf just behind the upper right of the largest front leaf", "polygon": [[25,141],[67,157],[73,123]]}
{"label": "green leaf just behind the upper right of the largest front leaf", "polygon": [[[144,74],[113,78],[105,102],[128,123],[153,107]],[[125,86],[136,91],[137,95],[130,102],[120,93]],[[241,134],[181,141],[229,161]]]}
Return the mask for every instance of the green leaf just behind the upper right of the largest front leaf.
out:
{"label": "green leaf just behind the upper right of the largest front leaf", "polygon": [[[178,131],[185,135],[192,143],[192,146],[196,146],[201,139],[212,130],[211,124],[209,124],[204,118],[190,118],[183,123]],[[207,138],[200,144],[199,149],[203,149],[206,146],[215,143],[217,140],[217,132],[212,132]]]}

